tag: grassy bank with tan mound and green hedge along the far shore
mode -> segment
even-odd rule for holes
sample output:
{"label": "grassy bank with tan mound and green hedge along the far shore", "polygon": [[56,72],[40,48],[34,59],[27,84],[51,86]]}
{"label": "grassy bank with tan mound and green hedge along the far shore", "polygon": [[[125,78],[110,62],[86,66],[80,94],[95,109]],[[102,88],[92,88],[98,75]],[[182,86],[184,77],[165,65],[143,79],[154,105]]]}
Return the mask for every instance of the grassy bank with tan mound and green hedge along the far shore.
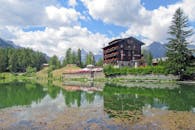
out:
{"label": "grassy bank with tan mound and green hedge along the far shore", "polygon": [[[77,82],[88,82],[92,79],[83,77],[82,75],[78,75],[75,77],[68,76],[67,78],[62,78],[62,74],[65,72],[74,72],[79,70],[79,67],[76,66],[66,66],[56,70],[49,70],[48,67],[43,68],[41,71],[36,72],[34,74],[26,75],[23,74],[11,74],[11,73],[1,73],[0,80],[2,82],[13,81],[13,80],[35,80],[35,81],[60,81],[60,82],[68,82],[68,81],[77,81]],[[176,82],[177,77],[173,75],[166,75],[165,69],[162,66],[155,67],[140,67],[140,68],[114,68],[112,66],[106,66],[104,68],[104,72],[106,77],[95,77],[93,79],[94,82],[112,82],[112,83],[120,83],[120,84],[128,84],[128,83],[167,83],[167,82]]]}

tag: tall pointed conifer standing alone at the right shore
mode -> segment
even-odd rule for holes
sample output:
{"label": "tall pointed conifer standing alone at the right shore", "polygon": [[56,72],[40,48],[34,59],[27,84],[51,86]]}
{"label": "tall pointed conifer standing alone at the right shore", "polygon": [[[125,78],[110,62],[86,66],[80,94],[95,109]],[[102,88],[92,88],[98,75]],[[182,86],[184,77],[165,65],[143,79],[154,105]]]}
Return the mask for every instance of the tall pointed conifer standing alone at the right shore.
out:
{"label": "tall pointed conifer standing alone at the right shore", "polygon": [[187,45],[187,37],[192,35],[192,29],[189,29],[188,18],[184,15],[181,8],[178,8],[173,16],[172,25],[169,27],[167,45],[167,70],[169,73],[178,75],[182,80],[186,68],[190,65],[191,52]]}

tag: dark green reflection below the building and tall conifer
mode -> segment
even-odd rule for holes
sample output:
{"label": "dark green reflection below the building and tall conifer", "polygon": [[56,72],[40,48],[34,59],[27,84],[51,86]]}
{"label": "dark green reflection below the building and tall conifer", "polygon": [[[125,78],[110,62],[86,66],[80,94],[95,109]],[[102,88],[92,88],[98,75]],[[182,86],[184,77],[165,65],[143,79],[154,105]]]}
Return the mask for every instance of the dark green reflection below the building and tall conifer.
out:
{"label": "dark green reflection below the building and tall conifer", "polygon": [[154,108],[191,111],[195,106],[195,87],[181,85],[174,89],[104,87],[104,106],[113,110],[142,110],[147,104]]}

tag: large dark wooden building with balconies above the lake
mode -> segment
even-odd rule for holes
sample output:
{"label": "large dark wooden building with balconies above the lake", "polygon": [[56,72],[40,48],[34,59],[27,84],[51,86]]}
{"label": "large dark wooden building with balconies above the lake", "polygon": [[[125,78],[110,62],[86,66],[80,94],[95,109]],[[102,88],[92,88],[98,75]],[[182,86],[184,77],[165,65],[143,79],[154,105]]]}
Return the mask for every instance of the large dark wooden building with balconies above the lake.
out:
{"label": "large dark wooden building with balconies above the lake", "polygon": [[143,42],[134,37],[116,39],[103,48],[104,64],[138,66]]}

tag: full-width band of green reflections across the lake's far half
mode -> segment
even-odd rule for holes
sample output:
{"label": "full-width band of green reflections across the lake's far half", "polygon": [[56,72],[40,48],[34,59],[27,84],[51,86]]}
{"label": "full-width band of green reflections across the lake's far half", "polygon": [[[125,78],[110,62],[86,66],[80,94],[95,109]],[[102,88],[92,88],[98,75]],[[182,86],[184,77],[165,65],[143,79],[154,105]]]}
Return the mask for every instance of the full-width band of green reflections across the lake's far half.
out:
{"label": "full-width band of green reflections across the lake's far half", "polygon": [[[195,107],[195,87],[192,85],[180,85],[174,89],[151,89],[105,84],[101,89],[95,88],[72,85],[58,87],[52,82],[48,82],[47,85],[32,82],[1,83],[0,108],[23,105],[32,107],[54,101],[63,107],[102,104],[105,109],[122,111],[142,110],[147,105],[152,108],[177,111],[194,111]],[[60,98],[62,96],[63,100]],[[59,98],[61,100],[58,101]]]}

